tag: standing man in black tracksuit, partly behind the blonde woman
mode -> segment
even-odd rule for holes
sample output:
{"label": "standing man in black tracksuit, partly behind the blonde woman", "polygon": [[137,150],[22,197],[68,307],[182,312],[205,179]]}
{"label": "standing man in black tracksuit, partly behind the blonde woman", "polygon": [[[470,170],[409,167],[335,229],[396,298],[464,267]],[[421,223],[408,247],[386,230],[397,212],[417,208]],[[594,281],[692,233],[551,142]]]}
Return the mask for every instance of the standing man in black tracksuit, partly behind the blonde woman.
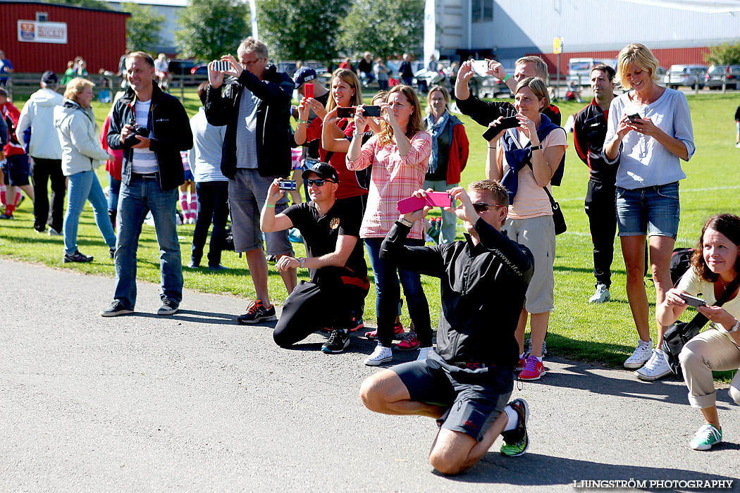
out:
{"label": "standing man in black tracksuit, partly behind the blonde woman", "polygon": [[576,154],[588,166],[585,209],[593,241],[593,276],[596,292],[589,303],[608,302],[611,285],[611,262],[614,259],[616,234],[616,170],[618,163],[609,164],[602,155],[606,138],[609,105],[614,98],[612,67],[598,64],[591,69],[593,101],[578,115],[573,125],[573,143]]}

